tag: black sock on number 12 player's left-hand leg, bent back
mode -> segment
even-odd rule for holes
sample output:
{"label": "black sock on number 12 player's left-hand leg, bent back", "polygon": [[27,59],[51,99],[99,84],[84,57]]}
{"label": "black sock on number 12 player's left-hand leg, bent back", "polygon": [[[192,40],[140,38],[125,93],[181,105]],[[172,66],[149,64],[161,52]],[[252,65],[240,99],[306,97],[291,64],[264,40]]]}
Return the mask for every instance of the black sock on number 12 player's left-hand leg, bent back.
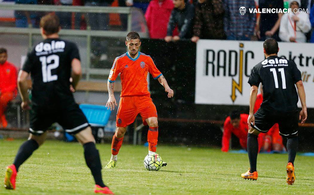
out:
{"label": "black sock on number 12 player's left-hand leg, bent back", "polygon": [[21,166],[38,147],[39,145],[35,140],[27,140],[20,146],[13,162],[16,171],[19,170],[19,166]]}

